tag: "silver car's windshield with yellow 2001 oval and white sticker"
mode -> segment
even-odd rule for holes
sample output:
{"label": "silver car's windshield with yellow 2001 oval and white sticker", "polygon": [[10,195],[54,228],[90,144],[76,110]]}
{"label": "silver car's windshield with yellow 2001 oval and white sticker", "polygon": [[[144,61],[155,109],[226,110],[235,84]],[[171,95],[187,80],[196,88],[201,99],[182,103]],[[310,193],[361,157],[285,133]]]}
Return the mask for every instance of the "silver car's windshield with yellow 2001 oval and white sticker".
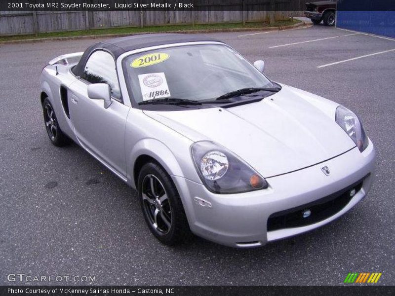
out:
{"label": "silver car's windshield with yellow 2001 oval and white sticker", "polygon": [[123,59],[123,72],[136,103],[160,98],[213,100],[243,88],[274,87],[237,52],[220,44],[133,54]]}

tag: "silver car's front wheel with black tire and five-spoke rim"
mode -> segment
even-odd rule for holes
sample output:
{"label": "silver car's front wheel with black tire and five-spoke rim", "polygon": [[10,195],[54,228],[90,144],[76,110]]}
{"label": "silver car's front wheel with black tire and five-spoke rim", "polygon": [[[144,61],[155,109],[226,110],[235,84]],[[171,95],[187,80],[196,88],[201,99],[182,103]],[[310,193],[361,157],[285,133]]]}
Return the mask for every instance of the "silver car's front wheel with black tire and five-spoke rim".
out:
{"label": "silver car's front wheel with black tire and five-spoke rim", "polygon": [[141,168],[137,190],[144,219],[161,243],[173,246],[193,237],[178,191],[158,163]]}

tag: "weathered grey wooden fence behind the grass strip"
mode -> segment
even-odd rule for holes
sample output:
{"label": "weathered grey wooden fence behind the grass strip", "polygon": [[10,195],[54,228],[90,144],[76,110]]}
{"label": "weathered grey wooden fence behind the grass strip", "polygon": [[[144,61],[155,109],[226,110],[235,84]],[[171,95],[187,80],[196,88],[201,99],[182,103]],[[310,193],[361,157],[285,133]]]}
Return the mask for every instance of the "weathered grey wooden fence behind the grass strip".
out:
{"label": "weathered grey wooden fence behind the grass strip", "polygon": [[[305,0],[276,0],[276,19],[302,16]],[[280,2],[281,1],[281,2]],[[264,21],[269,18],[267,4],[246,4],[244,10],[218,10],[207,5],[199,10],[111,10],[111,11],[0,11],[0,35],[24,35],[44,32],[77,31],[114,27],[144,27],[175,24],[237,23]],[[292,2],[293,6],[290,6]],[[296,4],[295,4],[296,3]],[[296,5],[296,6],[295,6]],[[218,5],[216,5],[218,6]],[[289,7],[288,11],[285,10]],[[297,8],[300,8],[299,10]],[[220,8],[221,9],[221,8]],[[291,10],[292,9],[292,10]]]}

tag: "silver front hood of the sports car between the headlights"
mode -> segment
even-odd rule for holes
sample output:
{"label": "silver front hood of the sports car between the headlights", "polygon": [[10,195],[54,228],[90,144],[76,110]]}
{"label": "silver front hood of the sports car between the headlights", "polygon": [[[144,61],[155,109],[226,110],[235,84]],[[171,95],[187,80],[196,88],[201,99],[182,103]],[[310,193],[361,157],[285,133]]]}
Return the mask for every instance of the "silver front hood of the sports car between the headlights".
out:
{"label": "silver front hood of the sports car between the headlights", "polygon": [[236,153],[265,178],[299,170],[355,147],[335,122],[338,104],[292,87],[232,108],[144,111],[192,141]]}

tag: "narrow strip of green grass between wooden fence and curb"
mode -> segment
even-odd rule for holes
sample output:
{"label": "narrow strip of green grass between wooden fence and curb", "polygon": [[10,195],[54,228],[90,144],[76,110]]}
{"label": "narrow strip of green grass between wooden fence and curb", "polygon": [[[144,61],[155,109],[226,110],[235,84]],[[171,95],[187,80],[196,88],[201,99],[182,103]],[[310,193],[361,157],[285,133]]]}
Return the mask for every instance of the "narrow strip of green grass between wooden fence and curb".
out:
{"label": "narrow strip of green grass between wooden fence and curb", "polygon": [[52,38],[52,37],[77,37],[77,36],[100,36],[107,34],[135,34],[135,33],[151,33],[151,32],[176,32],[176,31],[191,31],[191,30],[218,30],[218,29],[241,29],[241,28],[269,28],[282,27],[296,24],[298,20],[276,21],[273,26],[268,22],[248,22],[242,23],[223,23],[223,24],[196,24],[192,25],[166,25],[166,26],[151,26],[151,27],[122,27],[109,29],[93,29],[81,31],[64,31],[52,33],[39,33],[37,36],[31,35],[16,35],[16,36],[0,36],[0,41],[23,40],[35,38]]}

